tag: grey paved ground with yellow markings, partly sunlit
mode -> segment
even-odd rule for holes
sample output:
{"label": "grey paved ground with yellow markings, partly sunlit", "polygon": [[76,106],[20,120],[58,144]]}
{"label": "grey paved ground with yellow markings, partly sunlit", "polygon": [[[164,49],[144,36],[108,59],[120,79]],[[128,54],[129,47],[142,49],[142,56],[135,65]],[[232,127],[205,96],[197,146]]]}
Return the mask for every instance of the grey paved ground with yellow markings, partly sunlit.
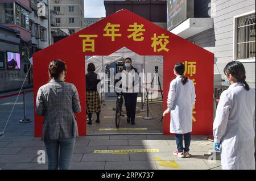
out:
{"label": "grey paved ground with yellow markings, partly sunlit", "polygon": [[[1,95],[0,95],[1,96]],[[16,96],[0,99],[0,131],[6,123]],[[161,133],[161,123],[137,117],[135,128],[147,131],[100,131],[100,128],[114,128],[113,104],[102,107],[101,124],[93,123],[88,133]],[[151,105],[154,117],[160,117],[158,103]],[[138,104],[138,109],[139,109]],[[27,116],[33,119],[32,92],[27,94]],[[138,116],[144,116],[144,113]],[[38,151],[45,150],[40,138],[34,137],[34,123],[20,124],[23,118],[22,96],[18,99],[6,132],[0,137],[0,169],[47,169],[47,164],[38,163]],[[131,128],[123,117],[121,128]],[[191,158],[177,158],[172,154],[176,149],[173,136],[163,135],[104,135],[86,136],[76,139],[75,151],[69,169],[221,169],[220,155],[211,153],[212,142],[206,136],[193,136]],[[94,150],[151,149],[154,153],[94,153]]]}

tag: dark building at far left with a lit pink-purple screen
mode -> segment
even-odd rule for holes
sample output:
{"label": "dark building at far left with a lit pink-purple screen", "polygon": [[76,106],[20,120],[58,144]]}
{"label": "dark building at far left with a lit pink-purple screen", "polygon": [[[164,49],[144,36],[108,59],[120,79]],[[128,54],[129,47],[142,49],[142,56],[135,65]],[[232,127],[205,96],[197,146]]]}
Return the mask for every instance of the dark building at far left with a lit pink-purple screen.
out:
{"label": "dark building at far left with a lit pink-purple screen", "polygon": [[[30,0],[0,1],[0,92],[20,89],[32,56]],[[24,87],[32,87],[31,71]]]}

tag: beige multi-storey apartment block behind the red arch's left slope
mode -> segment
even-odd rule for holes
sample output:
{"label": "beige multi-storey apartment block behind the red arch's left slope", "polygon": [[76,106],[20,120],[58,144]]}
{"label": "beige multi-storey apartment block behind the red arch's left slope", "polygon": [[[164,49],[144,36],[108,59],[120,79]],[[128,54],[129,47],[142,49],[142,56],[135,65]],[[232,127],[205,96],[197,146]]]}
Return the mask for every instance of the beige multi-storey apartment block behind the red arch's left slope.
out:
{"label": "beige multi-storey apartment block behind the red arch's left slope", "polygon": [[61,30],[72,35],[85,27],[84,0],[50,0],[51,10],[56,12],[52,31]]}

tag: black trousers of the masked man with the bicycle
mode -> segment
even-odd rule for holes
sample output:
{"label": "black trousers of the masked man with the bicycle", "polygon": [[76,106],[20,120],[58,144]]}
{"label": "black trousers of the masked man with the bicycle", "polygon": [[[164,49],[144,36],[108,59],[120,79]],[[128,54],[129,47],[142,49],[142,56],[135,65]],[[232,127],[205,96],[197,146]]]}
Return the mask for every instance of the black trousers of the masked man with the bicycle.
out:
{"label": "black trousers of the masked man with the bicycle", "polygon": [[130,118],[132,122],[134,122],[138,93],[123,93],[123,96],[125,97],[127,117]]}

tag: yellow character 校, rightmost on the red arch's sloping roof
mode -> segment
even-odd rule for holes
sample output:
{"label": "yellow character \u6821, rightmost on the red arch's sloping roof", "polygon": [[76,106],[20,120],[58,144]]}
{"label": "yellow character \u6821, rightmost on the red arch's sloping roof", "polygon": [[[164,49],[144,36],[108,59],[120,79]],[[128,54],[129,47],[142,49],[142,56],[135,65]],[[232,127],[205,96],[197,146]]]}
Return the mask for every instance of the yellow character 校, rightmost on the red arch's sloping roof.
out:
{"label": "yellow character \u6821, rightmost on the red arch's sloping roof", "polygon": [[[161,36],[156,36],[156,33],[154,33],[154,37],[151,38],[151,40],[153,40],[151,47],[154,48],[154,52],[156,51],[160,52],[162,50],[165,50],[166,52],[168,52],[169,49],[166,48],[166,45],[170,42],[168,38],[169,36],[165,36],[163,33]],[[158,48],[159,46],[160,48]]]}

